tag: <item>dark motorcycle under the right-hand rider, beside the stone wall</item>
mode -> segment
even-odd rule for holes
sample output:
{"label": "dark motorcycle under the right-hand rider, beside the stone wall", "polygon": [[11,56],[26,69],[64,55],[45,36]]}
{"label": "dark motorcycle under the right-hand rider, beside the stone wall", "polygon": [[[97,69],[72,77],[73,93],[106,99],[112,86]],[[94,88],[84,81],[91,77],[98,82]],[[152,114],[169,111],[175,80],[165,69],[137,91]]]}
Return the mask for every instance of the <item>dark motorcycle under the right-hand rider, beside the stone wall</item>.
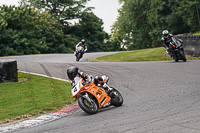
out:
{"label": "dark motorcycle under the right-hand rider, beside the stone wall", "polygon": [[180,41],[172,38],[172,42],[170,42],[169,48],[171,51],[171,57],[173,57],[175,62],[178,62],[179,60],[183,60],[183,62],[187,61],[183,46]]}

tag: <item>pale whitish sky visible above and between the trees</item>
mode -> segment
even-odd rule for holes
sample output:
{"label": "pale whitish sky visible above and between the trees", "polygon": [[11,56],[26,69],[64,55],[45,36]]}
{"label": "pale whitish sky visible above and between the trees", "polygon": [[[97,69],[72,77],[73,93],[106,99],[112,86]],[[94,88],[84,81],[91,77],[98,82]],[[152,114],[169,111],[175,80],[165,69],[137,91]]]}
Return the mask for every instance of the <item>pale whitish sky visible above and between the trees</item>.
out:
{"label": "pale whitish sky visible above and between the trees", "polygon": [[[0,5],[19,5],[20,0],[0,0]],[[111,32],[111,26],[117,20],[118,9],[121,5],[118,0],[90,0],[87,7],[95,7],[92,11],[104,22],[104,31]]]}

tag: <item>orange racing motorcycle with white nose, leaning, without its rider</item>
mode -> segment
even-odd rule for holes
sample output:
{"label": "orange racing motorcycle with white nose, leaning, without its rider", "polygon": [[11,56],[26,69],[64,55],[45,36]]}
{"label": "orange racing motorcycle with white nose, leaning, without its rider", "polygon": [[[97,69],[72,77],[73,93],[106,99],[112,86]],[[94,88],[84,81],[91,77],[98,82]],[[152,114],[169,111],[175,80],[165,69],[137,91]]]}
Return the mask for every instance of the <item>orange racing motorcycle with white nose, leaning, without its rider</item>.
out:
{"label": "orange racing motorcycle with white nose, leaning, without its rider", "polygon": [[82,78],[75,77],[71,95],[76,100],[80,108],[88,114],[96,114],[98,109],[113,106],[121,106],[123,97],[115,88],[107,85],[108,77],[102,76],[103,88],[98,87],[92,77],[84,82]]}

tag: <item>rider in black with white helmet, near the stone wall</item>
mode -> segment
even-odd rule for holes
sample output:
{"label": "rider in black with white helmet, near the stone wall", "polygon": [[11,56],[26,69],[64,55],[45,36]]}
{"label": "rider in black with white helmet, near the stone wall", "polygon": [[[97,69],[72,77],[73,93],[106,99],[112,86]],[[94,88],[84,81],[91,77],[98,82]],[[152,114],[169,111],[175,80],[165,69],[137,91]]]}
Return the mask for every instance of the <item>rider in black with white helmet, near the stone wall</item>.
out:
{"label": "rider in black with white helmet, near the stone wall", "polygon": [[169,48],[169,44],[170,42],[172,42],[172,38],[175,38],[176,40],[180,41],[181,43],[183,43],[183,41],[179,38],[177,38],[176,36],[173,36],[172,34],[169,34],[168,30],[164,30],[162,32],[162,41],[163,41],[163,46],[167,49],[167,54],[169,54],[170,56],[172,56],[171,54],[171,50]]}

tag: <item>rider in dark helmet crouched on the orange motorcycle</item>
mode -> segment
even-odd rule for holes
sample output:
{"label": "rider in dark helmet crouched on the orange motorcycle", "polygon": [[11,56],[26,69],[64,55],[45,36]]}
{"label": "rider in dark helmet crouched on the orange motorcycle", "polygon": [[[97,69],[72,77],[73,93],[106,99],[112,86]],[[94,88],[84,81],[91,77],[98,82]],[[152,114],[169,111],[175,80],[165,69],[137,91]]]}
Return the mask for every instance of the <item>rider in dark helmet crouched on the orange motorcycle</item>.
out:
{"label": "rider in dark helmet crouched on the orange motorcycle", "polygon": [[[68,75],[69,79],[71,80],[72,87],[75,85],[74,84],[75,83],[75,81],[74,81],[75,77],[82,78],[85,83],[89,83],[92,80],[91,75],[88,75],[84,72],[79,72],[78,67],[74,67],[74,66],[67,69],[67,75]],[[96,76],[94,78],[94,83],[95,83],[96,86],[105,89],[102,77]]]}

